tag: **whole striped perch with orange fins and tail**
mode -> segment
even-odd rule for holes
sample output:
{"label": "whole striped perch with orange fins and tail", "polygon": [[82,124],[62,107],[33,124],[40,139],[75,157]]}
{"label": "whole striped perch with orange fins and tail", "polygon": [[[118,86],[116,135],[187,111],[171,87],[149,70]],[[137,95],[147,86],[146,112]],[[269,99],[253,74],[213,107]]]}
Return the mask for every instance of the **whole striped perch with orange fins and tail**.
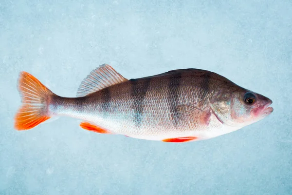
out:
{"label": "whole striped perch with orange fins and tail", "polygon": [[228,134],[274,110],[271,99],[217,73],[193,68],[127,79],[102,64],[84,78],[75,98],[56,95],[22,71],[18,91],[18,131],[69,116],[81,119],[80,127],[91,132],[175,143]]}

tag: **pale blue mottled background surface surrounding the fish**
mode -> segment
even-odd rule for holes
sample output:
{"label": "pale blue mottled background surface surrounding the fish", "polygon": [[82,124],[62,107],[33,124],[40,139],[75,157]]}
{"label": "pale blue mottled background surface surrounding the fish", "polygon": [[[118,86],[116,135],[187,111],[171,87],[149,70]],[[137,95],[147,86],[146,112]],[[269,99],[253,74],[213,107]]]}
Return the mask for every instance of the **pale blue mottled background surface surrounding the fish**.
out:
{"label": "pale blue mottled background surface surrounding the fish", "polygon": [[[27,71],[74,97],[92,69],[126,78],[201,68],[271,98],[237,132],[175,144],[100,135],[62,117],[17,132]],[[291,0],[0,0],[1,195],[292,194]]]}

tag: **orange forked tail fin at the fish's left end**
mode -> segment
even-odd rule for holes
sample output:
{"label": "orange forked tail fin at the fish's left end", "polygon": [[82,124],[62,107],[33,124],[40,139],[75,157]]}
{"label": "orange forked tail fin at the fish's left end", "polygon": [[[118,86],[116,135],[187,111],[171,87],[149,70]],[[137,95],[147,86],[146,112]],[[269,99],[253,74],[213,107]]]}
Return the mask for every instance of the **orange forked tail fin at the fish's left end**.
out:
{"label": "orange forked tail fin at the fish's left end", "polygon": [[15,129],[31,129],[50,118],[48,106],[54,93],[37,78],[27,72],[21,72],[18,91],[23,104],[15,116]]}

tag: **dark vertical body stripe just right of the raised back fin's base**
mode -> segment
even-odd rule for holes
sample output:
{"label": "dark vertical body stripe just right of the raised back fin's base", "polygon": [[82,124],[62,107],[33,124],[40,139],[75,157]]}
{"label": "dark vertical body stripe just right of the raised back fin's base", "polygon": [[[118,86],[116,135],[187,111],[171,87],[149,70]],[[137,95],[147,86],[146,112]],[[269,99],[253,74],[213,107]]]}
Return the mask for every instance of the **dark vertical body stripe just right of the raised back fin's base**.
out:
{"label": "dark vertical body stripe just right of the raised back fin's base", "polygon": [[141,127],[143,119],[143,102],[150,84],[150,78],[138,81],[130,79],[131,95],[133,99],[134,118],[133,122],[137,128]]}

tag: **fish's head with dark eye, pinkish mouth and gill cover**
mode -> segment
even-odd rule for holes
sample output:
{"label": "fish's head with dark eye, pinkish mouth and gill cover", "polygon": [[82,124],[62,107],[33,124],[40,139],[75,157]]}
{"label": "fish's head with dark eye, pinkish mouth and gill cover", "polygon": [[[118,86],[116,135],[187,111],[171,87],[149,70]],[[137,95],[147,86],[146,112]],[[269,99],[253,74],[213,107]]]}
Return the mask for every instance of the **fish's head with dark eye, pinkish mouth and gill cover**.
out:
{"label": "fish's head with dark eye, pinkish mouth and gill cover", "polygon": [[220,90],[211,103],[211,108],[220,122],[233,127],[255,123],[273,112],[272,100],[239,86]]}

